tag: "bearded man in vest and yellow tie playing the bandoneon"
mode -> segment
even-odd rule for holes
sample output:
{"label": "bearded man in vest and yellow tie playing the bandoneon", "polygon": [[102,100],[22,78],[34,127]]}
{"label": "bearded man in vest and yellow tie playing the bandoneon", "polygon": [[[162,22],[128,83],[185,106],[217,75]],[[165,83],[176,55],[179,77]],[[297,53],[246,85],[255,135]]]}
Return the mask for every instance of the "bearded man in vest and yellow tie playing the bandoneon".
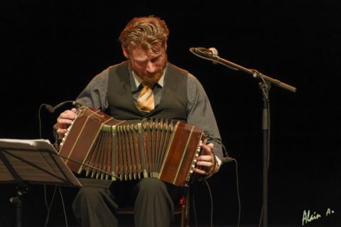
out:
{"label": "bearded man in vest and yellow tie playing the bandoneon", "polygon": [[[132,19],[119,36],[125,62],[98,74],[77,97],[77,103],[102,111],[109,110],[120,120],[172,118],[186,121],[220,140],[210,101],[200,82],[187,71],[175,67],[167,59],[168,28],[155,16]],[[76,117],[76,109],[58,117],[58,134]],[[203,155],[197,157],[195,172],[202,178],[217,172],[222,151],[215,140],[202,145]],[[215,143],[217,152],[213,155]],[[107,189],[83,187],[73,209],[82,226],[117,226],[114,210],[117,201]],[[114,187],[114,188],[113,188]],[[173,218],[174,187],[159,179],[146,178],[134,182],[135,226],[170,226]],[[125,189],[128,194],[127,189]]]}

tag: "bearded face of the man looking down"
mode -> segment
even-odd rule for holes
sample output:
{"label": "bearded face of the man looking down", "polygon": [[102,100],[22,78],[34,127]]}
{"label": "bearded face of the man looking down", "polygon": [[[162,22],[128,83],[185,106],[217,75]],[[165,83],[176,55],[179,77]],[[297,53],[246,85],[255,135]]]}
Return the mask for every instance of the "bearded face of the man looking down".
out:
{"label": "bearded face of the man looking down", "polygon": [[130,52],[124,49],[124,56],[129,59],[131,69],[148,87],[158,82],[167,64],[166,46],[161,47],[158,53],[140,47],[131,48]]}

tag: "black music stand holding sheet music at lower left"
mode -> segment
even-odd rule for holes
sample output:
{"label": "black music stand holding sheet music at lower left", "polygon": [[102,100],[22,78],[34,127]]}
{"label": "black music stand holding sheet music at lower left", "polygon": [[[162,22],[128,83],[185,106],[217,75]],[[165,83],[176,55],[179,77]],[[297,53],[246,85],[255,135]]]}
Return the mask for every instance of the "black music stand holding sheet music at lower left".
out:
{"label": "black music stand holding sheet music at lower left", "polygon": [[48,140],[0,139],[0,183],[17,184],[16,226],[21,227],[21,196],[29,184],[82,187]]}

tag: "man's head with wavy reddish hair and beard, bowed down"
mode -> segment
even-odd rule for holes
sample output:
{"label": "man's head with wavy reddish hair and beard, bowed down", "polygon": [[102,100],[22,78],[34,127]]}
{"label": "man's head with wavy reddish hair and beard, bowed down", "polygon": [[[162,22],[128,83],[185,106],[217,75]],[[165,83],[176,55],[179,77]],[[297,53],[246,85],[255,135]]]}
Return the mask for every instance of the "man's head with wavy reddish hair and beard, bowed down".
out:
{"label": "man's head with wavy reddish hair and beard, bowed down", "polygon": [[131,69],[152,87],[167,64],[168,28],[155,16],[134,18],[121,32],[119,41]]}

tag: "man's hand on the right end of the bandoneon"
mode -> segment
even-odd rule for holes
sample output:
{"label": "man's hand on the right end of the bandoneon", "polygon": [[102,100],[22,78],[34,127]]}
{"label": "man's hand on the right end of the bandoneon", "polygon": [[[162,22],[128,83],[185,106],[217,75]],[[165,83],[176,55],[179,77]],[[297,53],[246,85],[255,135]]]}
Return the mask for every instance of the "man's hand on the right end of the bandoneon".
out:
{"label": "man's hand on the right end of the bandoneon", "polygon": [[195,163],[197,166],[194,168],[194,172],[205,176],[210,176],[217,172],[219,166],[215,162],[215,157],[212,153],[213,146],[212,143],[201,145],[201,148],[203,149],[202,155],[197,157],[197,162]]}

